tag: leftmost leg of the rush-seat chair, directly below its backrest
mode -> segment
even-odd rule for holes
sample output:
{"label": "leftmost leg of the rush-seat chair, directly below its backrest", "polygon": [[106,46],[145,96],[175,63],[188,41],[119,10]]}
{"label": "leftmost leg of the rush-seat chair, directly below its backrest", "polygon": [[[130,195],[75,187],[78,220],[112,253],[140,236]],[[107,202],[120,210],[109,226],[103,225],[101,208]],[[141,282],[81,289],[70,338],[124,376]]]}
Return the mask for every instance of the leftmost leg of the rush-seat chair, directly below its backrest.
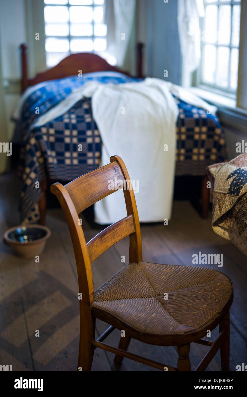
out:
{"label": "leftmost leg of the rush-seat chair, directly below its backrest", "polygon": [[91,311],[83,308],[83,304],[80,304],[80,341],[77,371],[91,370],[95,350],[92,345],[93,339],[95,339],[95,318],[91,315]]}

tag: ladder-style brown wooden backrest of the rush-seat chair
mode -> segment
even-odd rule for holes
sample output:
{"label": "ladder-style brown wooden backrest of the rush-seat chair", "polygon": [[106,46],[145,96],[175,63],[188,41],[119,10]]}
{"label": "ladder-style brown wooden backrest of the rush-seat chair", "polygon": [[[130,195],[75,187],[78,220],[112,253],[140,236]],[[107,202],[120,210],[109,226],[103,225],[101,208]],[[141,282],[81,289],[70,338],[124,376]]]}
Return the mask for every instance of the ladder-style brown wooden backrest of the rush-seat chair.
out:
{"label": "ladder-style brown wooden backrest of the rush-seat chair", "polygon": [[[109,180],[121,180],[109,189]],[[110,225],[88,243],[85,241],[83,229],[78,215],[102,198],[118,190],[118,186],[125,186],[124,198],[127,216]],[[54,183],[51,192],[58,198],[69,226],[75,260],[77,265],[79,292],[82,301],[92,304],[95,300],[91,263],[109,247],[129,235],[129,262],[142,261],[141,230],[135,202],[135,195],[129,179],[129,174],[123,160],[119,156],[112,156],[110,164],[91,171],[63,186]]]}

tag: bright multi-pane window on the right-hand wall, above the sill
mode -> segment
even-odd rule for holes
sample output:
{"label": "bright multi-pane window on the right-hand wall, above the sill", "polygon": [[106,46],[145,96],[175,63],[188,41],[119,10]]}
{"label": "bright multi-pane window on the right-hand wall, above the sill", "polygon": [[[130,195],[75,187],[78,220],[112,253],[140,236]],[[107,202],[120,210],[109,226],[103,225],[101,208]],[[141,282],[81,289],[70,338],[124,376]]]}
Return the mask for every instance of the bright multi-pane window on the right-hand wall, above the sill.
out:
{"label": "bright multi-pane window on the right-hand wall, above the sill", "polygon": [[235,94],[239,56],[240,0],[204,0],[199,84]]}

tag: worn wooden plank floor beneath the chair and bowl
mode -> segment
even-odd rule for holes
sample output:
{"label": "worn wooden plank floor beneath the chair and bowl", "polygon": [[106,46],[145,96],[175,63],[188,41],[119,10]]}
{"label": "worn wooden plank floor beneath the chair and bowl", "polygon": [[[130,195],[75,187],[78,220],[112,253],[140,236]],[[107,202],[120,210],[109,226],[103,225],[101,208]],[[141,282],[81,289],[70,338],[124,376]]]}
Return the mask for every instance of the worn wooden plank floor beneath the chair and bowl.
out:
{"label": "worn wooden plank floor beneath the chair and bowl", "polygon": [[[0,177],[0,231],[19,223],[17,211],[20,181],[14,175]],[[40,262],[17,258],[9,247],[0,242],[0,364],[12,365],[13,371],[75,371],[79,343],[79,304],[77,273],[73,247],[62,210],[48,210],[47,226],[52,235],[40,256]],[[100,229],[83,224],[88,241]],[[220,271],[233,280],[234,301],[230,312],[230,370],[247,362],[247,266],[244,256],[235,246],[212,231],[210,218],[203,220],[187,201],[175,201],[168,226],[141,226],[143,260],[155,263],[192,265],[192,254],[223,253]],[[128,239],[104,252],[93,268],[95,289],[124,263],[128,263]],[[200,265],[198,265],[200,266]],[[208,265],[218,269],[216,265]],[[96,321],[96,336],[107,325]],[[35,336],[39,330],[39,337]],[[212,337],[218,330],[212,332]],[[117,346],[120,331],[114,330],[106,342]],[[191,368],[195,369],[207,347],[191,345]],[[131,340],[129,351],[176,366],[176,347],[145,345]],[[126,358],[115,365],[114,355],[95,350],[95,371],[156,371]],[[216,354],[207,371],[220,370],[220,354]]]}

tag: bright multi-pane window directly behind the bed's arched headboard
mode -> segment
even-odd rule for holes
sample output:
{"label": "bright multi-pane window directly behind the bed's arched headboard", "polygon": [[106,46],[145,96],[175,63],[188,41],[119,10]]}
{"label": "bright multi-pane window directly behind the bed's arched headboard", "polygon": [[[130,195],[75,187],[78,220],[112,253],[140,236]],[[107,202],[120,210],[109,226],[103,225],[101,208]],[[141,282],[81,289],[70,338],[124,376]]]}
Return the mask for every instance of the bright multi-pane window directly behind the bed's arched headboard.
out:
{"label": "bright multi-pane window directly behind the bed's arched headboard", "polygon": [[104,0],[44,0],[46,64],[52,67],[69,54],[95,52],[111,64],[106,53]]}

